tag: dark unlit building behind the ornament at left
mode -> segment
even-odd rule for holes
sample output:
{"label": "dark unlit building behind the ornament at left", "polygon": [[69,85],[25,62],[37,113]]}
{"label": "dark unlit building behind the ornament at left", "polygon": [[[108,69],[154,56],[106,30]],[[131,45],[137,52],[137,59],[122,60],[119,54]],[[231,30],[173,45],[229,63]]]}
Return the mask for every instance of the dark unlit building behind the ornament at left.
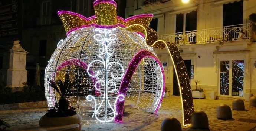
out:
{"label": "dark unlit building behind the ornament at left", "polygon": [[[36,64],[39,63],[41,78],[47,63],[56,49],[58,42],[66,38],[63,24],[57,14],[60,10],[72,11],[85,17],[94,14],[93,2],[95,0],[3,0],[0,2],[0,16],[8,19],[16,16],[16,35],[0,35],[0,75],[6,81],[7,70],[10,63],[10,51],[13,41],[19,40],[22,48],[27,52],[26,70],[27,82],[35,81]],[[126,0],[115,0],[118,3],[118,15],[125,17]],[[14,5],[14,6],[13,6]],[[19,7],[13,10],[13,7]],[[9,12],[7,12],[9,11]],[[16,13],[17,12],[17,13]],[[12,16],[9,14],[12,13]],[[13,14],[16,13],[16,14]],[[1,20],[0,19],[0,24]],[[10,23],[13,19],[6,20]],[[5,22],[5,21],[4,21]],[[9,30],[9,29],[8,29]],[[16,30],[15,30],[16,31]],[[1,30],[0,30],[1,34]],[[42,83],[43,83],[43,79]]]}

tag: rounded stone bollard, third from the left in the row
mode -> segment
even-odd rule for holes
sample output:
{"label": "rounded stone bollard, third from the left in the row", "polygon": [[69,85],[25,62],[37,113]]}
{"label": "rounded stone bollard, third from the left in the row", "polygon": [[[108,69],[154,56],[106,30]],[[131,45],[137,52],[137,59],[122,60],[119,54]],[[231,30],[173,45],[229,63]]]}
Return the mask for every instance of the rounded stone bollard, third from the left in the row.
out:
{"label": "rounded stone bollard, third from the left in the row", "polygon": [[231,119],[232,118],[232,112],[229,106],[226,104],[221,104],[216,109],[217,118],[218,119]]}

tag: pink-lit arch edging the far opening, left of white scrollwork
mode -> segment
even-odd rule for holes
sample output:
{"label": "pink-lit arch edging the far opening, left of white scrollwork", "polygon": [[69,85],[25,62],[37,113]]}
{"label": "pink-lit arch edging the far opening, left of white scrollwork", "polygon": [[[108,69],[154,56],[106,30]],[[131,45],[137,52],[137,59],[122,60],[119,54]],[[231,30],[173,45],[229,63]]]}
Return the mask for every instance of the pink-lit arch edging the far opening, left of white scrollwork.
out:
{"label": "pink-lit arch edging the far opening, left of white scrollwork", "polygon": [[[79,65],[79,62],[80,62],[80,65]],[[61,63],[57,69],[56,69],[56,76],[58,74],[57,71],[61,70],[62,68],[64,68],[65,66],[68,66],[68,65],[79,65],[80,68],[84,69],[84,70],[87,70],[88,68],[88,65],[85,63],[85,62],[82,62],[82,61],[79,61],[79,59],[69,59],[67,61],[64,61],[63,63]],[[94,75],[94,72],[92,70],[89,71],[92,75]],[[53,77],[55,76],[55,74],[53,73]],[[93,82],[93,85],[95,85],[96,81],[97,81],[97,78],[96,77],[90,77],[92,82]],[[94,86],[95,87],[95,86]],[[96,85],[96,88],[99,88],[99,83],[97,83]],[[95,90],[95,95],[96,96],[99,96],[101,94],[100,91],[98,90]]]}

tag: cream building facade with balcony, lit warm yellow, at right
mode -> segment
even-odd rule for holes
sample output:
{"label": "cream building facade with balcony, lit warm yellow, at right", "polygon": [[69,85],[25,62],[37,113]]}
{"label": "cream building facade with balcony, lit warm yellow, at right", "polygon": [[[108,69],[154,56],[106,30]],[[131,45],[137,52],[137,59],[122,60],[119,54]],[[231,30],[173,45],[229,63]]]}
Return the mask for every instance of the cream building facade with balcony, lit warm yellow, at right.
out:
{"label": "cream building facade with balcony, lit warm yellow, at right", "polygon": [[[127,0],[125,16],[154,14],[150,27],[158,39],[175,43],[190,75],[206,98],[244,98],[256,94],[256,43],[250,34],[249,15],[255,0]],[[164,65],[166,87],[179,95],[172,60],[167,50],[155,49]]]}

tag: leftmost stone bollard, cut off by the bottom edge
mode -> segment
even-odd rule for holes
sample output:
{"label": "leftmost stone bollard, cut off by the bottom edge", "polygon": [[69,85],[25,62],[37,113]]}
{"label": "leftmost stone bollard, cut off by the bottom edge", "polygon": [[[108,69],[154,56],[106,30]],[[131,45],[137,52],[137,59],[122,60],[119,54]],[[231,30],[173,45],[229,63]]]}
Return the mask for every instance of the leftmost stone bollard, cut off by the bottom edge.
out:
{"label": "leftmost stone bollard, cut off by the bottom edge", "polygon": [[180,121],[176,118],[166,118],[161,124],[161,131],[182,131]]}

